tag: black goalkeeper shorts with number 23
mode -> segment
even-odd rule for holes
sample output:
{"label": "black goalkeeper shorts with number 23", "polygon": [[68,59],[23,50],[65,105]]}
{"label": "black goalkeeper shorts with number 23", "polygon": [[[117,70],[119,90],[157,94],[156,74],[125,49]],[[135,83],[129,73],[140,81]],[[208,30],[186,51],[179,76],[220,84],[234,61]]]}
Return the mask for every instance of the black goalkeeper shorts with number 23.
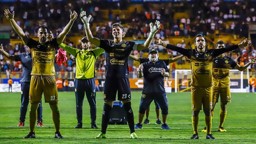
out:
{"label": "black goalkeeper shorts with number 23", "polygon": [[118,100],[126,101],[131,99],[129,78],[106,76],[104,87],[104,101],[115,101],[117,91]]}

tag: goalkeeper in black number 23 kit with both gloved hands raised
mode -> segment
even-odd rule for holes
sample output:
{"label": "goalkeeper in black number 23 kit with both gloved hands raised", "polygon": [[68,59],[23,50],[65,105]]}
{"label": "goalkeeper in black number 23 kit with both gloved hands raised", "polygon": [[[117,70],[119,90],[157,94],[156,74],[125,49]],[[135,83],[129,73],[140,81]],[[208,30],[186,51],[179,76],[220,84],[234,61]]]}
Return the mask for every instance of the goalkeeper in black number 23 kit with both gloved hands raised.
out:
{"label": "goalkeeper in black number 23 kit with both gloved hands raised", "polygon": [[86,17],[85,11],[82,11],[80,18],[84,23],[85,32],[88,40],[106,51],[107,68],[104,88],[104,107],[101,122],[101,132],[96,138],[106,138],[106,130],[110,117],[110,111],[113,107],[113,101],[116,99],[118,91],[118,100],[123,102],[126,112],[127,122],[130,128],[130,138],[138,138],[134,130],[134,116],[131,107],[131,90],[128,71],[128,57],[132,50],[147,49],[154,37],[154,34],[160,29],[160,22],[156,21],[153,26],[150,23],[150,35],[144,44],[134,43],[131,41],[122,40],[123,26],[119,23],[112,25],[113,41],[98,39],[92,36],[89,28],[91,15]]}

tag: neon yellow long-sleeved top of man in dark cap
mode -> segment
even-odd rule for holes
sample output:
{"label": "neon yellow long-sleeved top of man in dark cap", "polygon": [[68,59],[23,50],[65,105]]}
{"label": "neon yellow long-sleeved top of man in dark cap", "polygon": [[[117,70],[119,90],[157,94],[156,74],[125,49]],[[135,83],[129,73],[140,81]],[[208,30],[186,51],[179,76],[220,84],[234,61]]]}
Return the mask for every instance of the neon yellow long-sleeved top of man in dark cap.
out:
{"label": "neon yellow long-sleeved top of man in dark cap", "polygon": [[88,79],[95,77],[95,61],[99,55],[105,52],[105,50],[103,50],[102,48],[92,50],[79,50],[67,46],[64,43],[61,43],[59,47],[75,57],[76,79]]}

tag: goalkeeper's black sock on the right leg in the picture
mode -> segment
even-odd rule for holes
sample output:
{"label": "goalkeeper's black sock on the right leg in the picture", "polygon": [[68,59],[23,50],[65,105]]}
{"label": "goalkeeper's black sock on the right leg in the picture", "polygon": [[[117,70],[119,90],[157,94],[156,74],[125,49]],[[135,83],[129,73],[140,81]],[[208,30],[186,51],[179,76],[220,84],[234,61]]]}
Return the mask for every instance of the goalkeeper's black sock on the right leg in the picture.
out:
{"label": "goalkeeper's black sock on the right leg in the picture", "polygon": [[134,116],[133,116],[133,111],[131,107],[131,102],[124,103],[124,109],[126,112],[126,119],[130,128],[130,133],[133,133],[135,132],[135,130],[134,130]]}

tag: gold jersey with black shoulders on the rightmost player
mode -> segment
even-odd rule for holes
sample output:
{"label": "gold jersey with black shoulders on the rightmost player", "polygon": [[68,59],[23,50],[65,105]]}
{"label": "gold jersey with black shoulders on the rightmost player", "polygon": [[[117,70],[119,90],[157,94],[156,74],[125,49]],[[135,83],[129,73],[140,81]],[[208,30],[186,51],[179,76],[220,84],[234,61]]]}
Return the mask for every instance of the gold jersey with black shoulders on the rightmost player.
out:
{"label": "gold jersey with black shoulders on the rightmost player", "polygon": [[229,56],[222,58],[215,57],[213,59],[213,87],[229,87],[229,69],[230,67],[235,68],[237,63]]}

